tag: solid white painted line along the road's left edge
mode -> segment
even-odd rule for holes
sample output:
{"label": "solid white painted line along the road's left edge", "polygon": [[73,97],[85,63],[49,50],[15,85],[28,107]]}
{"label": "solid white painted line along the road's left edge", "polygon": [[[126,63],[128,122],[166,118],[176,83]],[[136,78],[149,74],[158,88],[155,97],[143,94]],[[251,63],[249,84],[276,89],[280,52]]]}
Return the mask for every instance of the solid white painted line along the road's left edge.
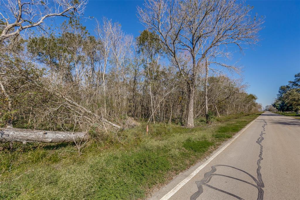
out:
{"label": "solid white painted line along the road's left edge", "polygon": [[[258,116],[259,117],[259,116]],[[229,144],[231,144],[233,141],[235,141],[236,138],[238,138],[238,136],[240,136],[255,120],[257,119],[257,117],[250,122],[243,130],[241,130],[241,132],[236,135],[230,142],[228,142],[222,149],[220,149],[217,153],[215,153],[213,156],[211,156],[208,160],[206,160],[202,165],[200,165],[195,171],[193,171],[193,173],[191,173],[188,177],[186,177],[184,180],[182,180],[180,183],[178,183],[178,185],[176,185],[170,192],[168,192],[166,195],[164,195],[161,200],[167,200],[169,199],[171,196],[173,196],[182,186],[185,185],[185,183],[189,182],[202,168],[204,168],[208,163],[210,163],[212,161],[212,159],[214,159],[217,155],[219,155],[224,149],[226,149],[226,147],[229,146]]]}

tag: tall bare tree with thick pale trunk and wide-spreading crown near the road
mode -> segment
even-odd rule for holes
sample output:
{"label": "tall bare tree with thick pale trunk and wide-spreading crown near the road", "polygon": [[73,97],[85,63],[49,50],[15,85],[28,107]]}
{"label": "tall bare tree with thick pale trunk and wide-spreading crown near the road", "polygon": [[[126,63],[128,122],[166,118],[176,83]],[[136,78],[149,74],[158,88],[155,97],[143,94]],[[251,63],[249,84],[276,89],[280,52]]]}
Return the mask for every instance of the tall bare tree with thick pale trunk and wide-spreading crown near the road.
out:
{"label": "tall bare tree with thick pale trunk and wide-spreading crown near the road", "polygon": [[[243,49],[244,44],[255,43],[262,20],[250,16],[251,7],[235,1],[149,0],[144,6],[145,9],[138,8],[140,21],[160,35],[171,63],[186,77],[189,86],[187,126],[193,127],[195,81],[200,68],[208,68],[208,60],[215,57],[216,49],[221,53],[221,48],[229,44]],[[192,64],[187,67],[179,56],[182,52],[189,53]],[[208,117],[207,106],[205,111]]]}

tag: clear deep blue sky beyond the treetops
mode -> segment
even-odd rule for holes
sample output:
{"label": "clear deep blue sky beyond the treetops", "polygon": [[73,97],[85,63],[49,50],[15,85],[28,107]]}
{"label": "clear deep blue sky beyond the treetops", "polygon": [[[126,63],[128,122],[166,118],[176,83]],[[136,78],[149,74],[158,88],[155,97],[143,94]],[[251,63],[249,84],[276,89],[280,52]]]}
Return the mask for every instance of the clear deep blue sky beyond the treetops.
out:
{"label": "clear deep blue sky beyond the treetops", "polygon": [[[259,33],[261,41],[244,55],[235,54],[233,61],[243,66],[244,83],[250,86],[247,92],[258,97],[257,102],[265,107],[276,97],[279,86],[293,80],[300,72],[300,1],[246,1],[254,6],[253,13],[265,17],[264,29]],[[96,1],[90,0],[85,17],[103,17],[118,21],[122,29],[134,37],[144,27],[137,18],[137,6],[143,1]],[[83,24],[92,32],[94,20]]]}

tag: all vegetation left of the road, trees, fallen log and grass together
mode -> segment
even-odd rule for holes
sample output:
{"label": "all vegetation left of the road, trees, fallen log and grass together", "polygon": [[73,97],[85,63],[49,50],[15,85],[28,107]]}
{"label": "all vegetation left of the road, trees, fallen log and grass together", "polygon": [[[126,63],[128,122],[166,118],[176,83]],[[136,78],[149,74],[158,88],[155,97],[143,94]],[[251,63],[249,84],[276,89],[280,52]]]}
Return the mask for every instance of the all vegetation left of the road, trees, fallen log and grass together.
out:
{"label": "all vegetation left of the road, trees, fallen log and grass together", "polygon": [[0,0],[0,199],[145,198],[259,115],[229,76],[259,41],[253,7],[148,0],[134,38],[88,30],[87,3]]}

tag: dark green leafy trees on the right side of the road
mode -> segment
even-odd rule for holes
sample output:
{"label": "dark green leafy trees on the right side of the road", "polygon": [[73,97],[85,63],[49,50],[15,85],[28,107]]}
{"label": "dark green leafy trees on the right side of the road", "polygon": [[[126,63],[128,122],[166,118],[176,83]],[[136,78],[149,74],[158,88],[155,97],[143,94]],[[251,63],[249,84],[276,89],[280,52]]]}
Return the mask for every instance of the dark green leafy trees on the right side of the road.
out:
{"label": "dark green leafy trees on the right side of the road", "polygon": [[295,74],[295,79],[289,81],[287,85],[279,87],[277,98],[272,105],[281,112],[300,111],[300,73]]}

